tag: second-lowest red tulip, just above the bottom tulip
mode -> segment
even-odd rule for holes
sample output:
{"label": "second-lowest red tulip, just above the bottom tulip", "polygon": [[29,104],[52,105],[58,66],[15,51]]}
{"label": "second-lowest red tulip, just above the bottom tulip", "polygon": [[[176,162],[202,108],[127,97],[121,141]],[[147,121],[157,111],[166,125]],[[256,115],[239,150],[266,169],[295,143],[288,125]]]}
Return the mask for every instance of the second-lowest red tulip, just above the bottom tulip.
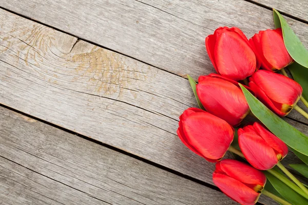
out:
{"label": "second-lowest red tulip, just above the bottom tulip", "polygon": [[238,130],[239,146],[256,169],[272,169],[287,154],[284,142],[258,122]]}

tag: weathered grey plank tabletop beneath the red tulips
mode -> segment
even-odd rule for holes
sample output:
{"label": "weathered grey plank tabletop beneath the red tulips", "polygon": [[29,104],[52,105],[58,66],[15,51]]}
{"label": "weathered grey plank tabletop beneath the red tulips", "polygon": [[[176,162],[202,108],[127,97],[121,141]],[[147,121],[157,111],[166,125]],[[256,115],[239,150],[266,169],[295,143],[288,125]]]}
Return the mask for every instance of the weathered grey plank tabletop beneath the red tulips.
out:
{"label": "weathered grey plank tabletop beneath the red tulips", "polygon": [[217,27],[274,28],[271,7],[308,47],[308,3],[283,2],[0,0],[0,202],[236,204],[176,134],[186,74],[215,72]]}

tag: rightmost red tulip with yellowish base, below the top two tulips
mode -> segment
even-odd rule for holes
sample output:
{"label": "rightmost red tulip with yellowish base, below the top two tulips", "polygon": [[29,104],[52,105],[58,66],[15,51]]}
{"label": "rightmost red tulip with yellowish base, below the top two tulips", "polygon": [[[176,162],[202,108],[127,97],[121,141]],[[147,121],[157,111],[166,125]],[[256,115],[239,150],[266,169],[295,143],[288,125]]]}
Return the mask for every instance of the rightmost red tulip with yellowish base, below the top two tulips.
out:
{"label": "rightmost red tulip with yellowish base, below the top two tulips", "polygon": [[302,88],[293,79],[266,70],[258,70],[249,78],[249,87],[269,109],[283,117],[296,105]]}

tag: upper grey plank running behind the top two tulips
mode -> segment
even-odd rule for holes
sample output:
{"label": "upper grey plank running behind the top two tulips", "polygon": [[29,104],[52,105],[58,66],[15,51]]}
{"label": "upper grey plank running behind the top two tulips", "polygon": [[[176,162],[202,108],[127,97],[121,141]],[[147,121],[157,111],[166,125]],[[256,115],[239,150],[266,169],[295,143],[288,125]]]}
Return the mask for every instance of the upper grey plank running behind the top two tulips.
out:
{"label": "upper grey plank running behind the top two tulips", "polygon": [[[248,37],[259,30],[274,28],[272,11],[242,0],[99,0],[91,4],[81,0],[0,0],[0,3],[11,11],[111,50],[194,78],[215,72],[204,38],[216,28],[236,26]],[[291,18],[287,21],[308,47],[306,25]],[[295,111],[290,117],[308,124]]]}

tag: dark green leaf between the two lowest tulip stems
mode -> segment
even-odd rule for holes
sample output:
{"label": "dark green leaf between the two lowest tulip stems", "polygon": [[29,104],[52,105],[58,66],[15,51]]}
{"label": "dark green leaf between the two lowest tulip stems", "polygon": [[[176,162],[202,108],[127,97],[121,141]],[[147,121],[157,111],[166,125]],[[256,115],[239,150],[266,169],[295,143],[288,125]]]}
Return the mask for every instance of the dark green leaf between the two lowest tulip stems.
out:
{"label": "dark green leaf between the two lowest tulip stems", "polygon": [[[295,205],[304,205],[308,204],[308,200],[303,196],[298,194],[296,191],[288,187],[285,183],[280,181],[278,178],[269,174],[268,172],[264,172],[266,178],[269,182],[271,182],[272,186],[277,190],[277,192],[287,201],[295,204]],[[268,190],[269,191],[269,190]]]}

